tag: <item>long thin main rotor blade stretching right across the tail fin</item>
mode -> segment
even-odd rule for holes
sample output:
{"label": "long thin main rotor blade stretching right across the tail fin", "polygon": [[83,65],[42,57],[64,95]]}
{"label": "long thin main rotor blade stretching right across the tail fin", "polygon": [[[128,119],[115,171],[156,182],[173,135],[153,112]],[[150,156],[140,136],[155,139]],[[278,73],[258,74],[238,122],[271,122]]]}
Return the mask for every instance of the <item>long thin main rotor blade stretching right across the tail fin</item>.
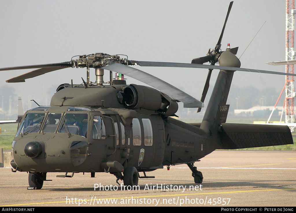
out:
{"label": "long thin main rotor blade stretching right across the tail fin", "polygon": [[184,67],[184,68],[204,68],[204,69],[216,69],[216,70],[231,70],[231,71],[244,71],[253,73],[268,73],[284,76],[296,76],[292,73],[281,73],[268,70],[255,70],[239,67],[226,67],[226,66],[216,66],[216,65],[204,65],[204,64],[189,64],[189,63],[174,63],[174,62],[152,62],[152,61],[135,61],[136,64],[142,67]]}

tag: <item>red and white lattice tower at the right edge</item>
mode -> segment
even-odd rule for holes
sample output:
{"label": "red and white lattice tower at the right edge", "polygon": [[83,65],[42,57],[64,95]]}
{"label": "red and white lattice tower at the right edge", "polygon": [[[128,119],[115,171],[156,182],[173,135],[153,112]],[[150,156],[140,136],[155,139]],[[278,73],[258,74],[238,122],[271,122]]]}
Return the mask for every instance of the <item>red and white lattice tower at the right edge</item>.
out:
{"label": "red and white lattice tower at the right edge", "polygon": [[[295,59],[294,52],[294,0],[286,0],[286,61]],[[286,65],[286,73],[294,73],[294,65]],[[294,76],[286,76],[285,122],[294,123]],[[292,130],[292,129],[291,129]]]}

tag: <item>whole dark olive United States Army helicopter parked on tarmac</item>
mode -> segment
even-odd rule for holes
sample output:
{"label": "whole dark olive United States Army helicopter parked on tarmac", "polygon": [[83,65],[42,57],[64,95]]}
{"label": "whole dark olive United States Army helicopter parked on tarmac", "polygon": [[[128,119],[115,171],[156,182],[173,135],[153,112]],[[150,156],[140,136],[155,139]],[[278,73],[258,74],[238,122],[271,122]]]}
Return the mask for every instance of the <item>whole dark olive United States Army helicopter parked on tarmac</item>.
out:
{"label": "whole dark olive United States Army helicopter parked on tarmac", "polygon": [[[238,50],[221,41],[233,2],[230,3],[221,35],[214,49],[191,63],[136,61],[121,55],[95,53],[75,56],[68,62],[0,68],[0,71],[36,69],[6,82],[25,82],[63,68],[86,68],[82,84],[61,84],[50,106],[28,110],[20,119],[12,142],[12,172],[28,172],[29,187],[41,189],[48,172],[107,172],[126,186],[138,185],[139,178],[153,178],[146,172],[163,166],[187,164],[195,183],[202,172],[194,162],[216,149],[238,149],[293,144],[288,126],[226,123],[226,104],[235,71],[292,75],[240,68]],[[204,65],[210,63],[210,65]],[[215,65],[219,63],[219,65]],[[209,69],[201,100],[134,66]],[[96,81],[91,82],[90,68]],[[219,74],[201,123],[187,124],[177,117],[178,102],[185,108],[204,107],[213,69]],[[104,70],[110,81],[104,82]],[[116,79],[112,79],[116,72]],[[151,87],[126,84],[124,75]],[[153,87],[153,88],[152,88]],[[140,176],[140,172],[143,175]],[[68,173],[72,173],[68,175]],[[118,183],[119,184],[119,183]]]}

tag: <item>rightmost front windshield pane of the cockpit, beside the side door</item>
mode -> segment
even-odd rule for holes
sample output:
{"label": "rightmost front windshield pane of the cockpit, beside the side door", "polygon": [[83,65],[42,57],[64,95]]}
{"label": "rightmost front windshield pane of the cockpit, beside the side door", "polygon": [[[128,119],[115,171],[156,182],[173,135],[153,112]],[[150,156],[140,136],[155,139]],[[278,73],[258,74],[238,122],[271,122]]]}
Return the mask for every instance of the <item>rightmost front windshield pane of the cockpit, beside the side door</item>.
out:
{"label": "rightmost front windshield pane of the cockpit, beside the side door", "polygon": [[84,113],[66,113],[58,132],[87,135],[88,115]]}

